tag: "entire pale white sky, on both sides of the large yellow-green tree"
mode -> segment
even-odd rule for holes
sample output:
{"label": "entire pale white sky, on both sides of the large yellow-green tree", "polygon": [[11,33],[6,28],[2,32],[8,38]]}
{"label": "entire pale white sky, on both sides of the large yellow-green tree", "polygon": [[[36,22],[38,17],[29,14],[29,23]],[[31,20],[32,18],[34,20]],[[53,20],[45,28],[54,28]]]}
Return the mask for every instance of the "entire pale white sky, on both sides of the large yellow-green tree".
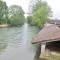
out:
{"label": "entire pale white sky, on both sides of the large yellow-green tree", "polygon": [[[30,0],[4,0],[7,2],[8,6],[11,5],[20,5],[25,11],[25,16],[27,16],[28,7]],[[53,11],[53,19],[60,19],[60,0],[45,0],[48,5],[52,8]]]}

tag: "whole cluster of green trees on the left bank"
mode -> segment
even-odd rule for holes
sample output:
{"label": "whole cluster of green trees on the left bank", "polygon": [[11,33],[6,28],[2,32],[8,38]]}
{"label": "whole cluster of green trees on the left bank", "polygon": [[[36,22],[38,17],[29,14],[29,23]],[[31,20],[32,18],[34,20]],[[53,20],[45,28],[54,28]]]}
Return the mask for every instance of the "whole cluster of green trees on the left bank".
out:
{"label": "whole cluster of green trees on the left bank", "polygon": [[20,26],[24,23],[24,11],[21,6],[7,6],[6,2],[0,0],[0,24]]}

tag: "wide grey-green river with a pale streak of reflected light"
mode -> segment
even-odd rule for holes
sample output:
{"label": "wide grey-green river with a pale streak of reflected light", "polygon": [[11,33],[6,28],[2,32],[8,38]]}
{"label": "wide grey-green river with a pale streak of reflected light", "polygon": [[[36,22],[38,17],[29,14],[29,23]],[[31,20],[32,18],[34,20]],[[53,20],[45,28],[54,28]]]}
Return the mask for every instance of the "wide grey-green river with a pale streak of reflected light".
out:
{"label": "wide grey-green river with a pale streak of reflected light", "polygon": [[31,44],[38,27],[0,28],[0,60],[35,60],[35,46]]}

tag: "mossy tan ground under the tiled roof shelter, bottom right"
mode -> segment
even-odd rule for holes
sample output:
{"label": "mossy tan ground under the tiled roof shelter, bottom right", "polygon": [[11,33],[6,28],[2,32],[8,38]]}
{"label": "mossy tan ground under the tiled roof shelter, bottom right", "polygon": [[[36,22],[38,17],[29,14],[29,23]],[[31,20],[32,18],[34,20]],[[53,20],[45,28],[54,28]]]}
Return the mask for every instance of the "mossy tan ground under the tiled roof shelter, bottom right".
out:
{"label": "mossy tan ground under the tiled roof shelter, bottom right", "polygon": [[44,56],[40,60],[60,60],[60,52],[46,50]]}

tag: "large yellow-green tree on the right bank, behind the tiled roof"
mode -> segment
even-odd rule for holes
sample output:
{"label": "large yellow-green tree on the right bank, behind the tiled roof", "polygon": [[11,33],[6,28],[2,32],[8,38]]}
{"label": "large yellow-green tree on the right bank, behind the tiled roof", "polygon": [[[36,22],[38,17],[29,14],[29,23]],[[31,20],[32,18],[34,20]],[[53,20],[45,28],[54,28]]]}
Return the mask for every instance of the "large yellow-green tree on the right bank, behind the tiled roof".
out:
{"label": "large yellow-green tree on the right bank, behind the tiled roof", "polygon": [[28,16],[28,22],[42,28],[45,22],[52,16],[50,6],[46,1],[38,1],[32,9],[32,16]]}

